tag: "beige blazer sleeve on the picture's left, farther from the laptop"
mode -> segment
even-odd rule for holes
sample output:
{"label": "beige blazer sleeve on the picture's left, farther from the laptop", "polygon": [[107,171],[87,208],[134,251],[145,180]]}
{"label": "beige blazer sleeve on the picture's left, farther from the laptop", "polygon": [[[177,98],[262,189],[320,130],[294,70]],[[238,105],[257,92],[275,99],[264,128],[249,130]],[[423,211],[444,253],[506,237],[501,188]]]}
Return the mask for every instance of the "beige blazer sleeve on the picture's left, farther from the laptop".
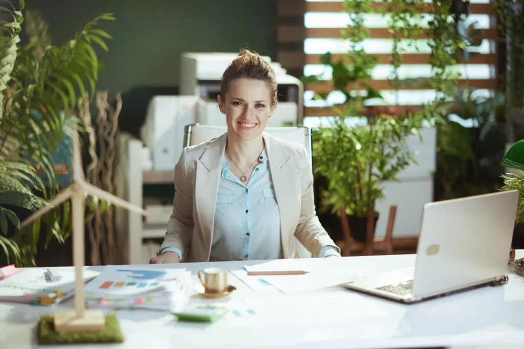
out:
{"label": "beige blazer sleeve on the picture's left, farther from the laptop", "polygon": [[166,247],[177,247],[185,255],[191,245],[193,227],[193,185],[188,178],[187,149],[184,149],[174,166],[173,213],[160,251]]}

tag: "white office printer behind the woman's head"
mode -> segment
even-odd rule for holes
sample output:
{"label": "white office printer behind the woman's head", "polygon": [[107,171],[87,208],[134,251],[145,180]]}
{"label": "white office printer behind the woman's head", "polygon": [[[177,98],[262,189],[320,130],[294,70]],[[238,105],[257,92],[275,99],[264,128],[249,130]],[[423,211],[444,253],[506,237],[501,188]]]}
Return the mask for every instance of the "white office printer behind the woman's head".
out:
{"label": "white office printer behind the woman's head", "polygon": [[[180,67],[180,94],[201,98],[197,122],[204,125],[226,126],[216,102],[220,94],[222,74],[237,57],[237,53],[183,53]],[[268,120],[268,127],[302,125],[304,86],[287,74],[279,63],[262,56],[273,68],[278,85],[278,107]]]}

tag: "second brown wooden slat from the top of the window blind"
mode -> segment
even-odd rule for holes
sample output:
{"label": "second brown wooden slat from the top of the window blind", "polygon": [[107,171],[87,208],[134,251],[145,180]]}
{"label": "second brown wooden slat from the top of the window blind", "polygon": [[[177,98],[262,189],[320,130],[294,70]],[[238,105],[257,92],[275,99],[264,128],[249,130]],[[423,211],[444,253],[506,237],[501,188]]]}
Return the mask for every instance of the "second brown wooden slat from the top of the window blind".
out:
{"label": "second brown wooden slat from the top of the window blind", "polygon": [[[294,33],[300,32],[298,28],[303,30],[303,27],[299,26],[278,26],[279,38],[286,38],[288,42],[300,41],[301,38]],[[341,30],[346,28],[307,28],[305,29],[305,38],[323,38],[323,39],[339,39],[344,38]],[[370,38],[373,39],[391,39],[392,33],[387,28],[368,28]],[[397,36],[402,37],[402,33],[397,31]],[[481,29],[481,37],[484,39],[495,40],[498,38],[498,29]],[[293,40],[295,38],[295,40]],[[427,32],[419,33],[418,35],[410,35],[410,39],[427,39]]]}

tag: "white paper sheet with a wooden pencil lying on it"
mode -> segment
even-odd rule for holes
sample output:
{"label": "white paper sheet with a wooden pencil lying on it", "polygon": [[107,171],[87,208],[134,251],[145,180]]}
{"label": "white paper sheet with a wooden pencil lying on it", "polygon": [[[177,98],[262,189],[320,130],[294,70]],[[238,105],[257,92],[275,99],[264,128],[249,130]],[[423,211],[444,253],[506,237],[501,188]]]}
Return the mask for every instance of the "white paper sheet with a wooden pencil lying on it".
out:
{"label": "white paper sheet with a wooden pencil lying on it", "polygon": [[[331,269],[298,260],[270,261],[245,268],[248,273],[257,272],[256,275],[248,275],[246,278],[260,278],[284,293],[308,292],[338,286],[364,274],[354,269]],[[295,272],[296,274],[293,274]]]}

